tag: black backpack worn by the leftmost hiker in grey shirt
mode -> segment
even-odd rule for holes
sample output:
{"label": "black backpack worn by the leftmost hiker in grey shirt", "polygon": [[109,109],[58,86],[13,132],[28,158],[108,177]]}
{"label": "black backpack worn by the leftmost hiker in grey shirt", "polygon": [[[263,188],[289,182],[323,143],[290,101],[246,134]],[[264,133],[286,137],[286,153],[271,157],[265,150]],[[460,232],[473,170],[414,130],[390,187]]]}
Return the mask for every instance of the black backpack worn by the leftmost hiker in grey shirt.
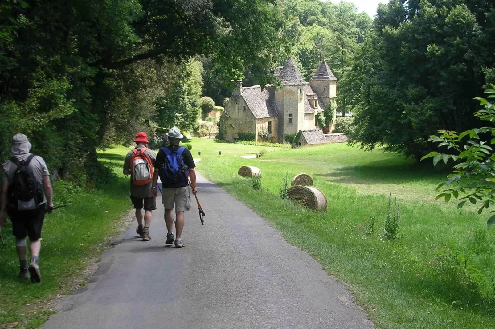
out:
{"label": "black backpack worn by the leftmost hiker in grey shirt", "polygon": [[44,192],[42,185],[36,180],[33,170],[29,167],[34,155],[26,160],[19,161],[12,158],[17,165],[14,176],[8,186],[9,205],[17,210],[33,210],[43,202]]}

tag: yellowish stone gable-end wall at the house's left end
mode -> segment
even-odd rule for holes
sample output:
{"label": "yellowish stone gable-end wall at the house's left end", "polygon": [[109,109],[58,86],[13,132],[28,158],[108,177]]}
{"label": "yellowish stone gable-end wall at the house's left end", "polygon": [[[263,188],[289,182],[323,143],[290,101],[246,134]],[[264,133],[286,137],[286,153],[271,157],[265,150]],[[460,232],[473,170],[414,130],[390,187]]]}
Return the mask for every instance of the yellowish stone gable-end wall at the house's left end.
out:
{"label": "yellowish stone gable-end wall at the house's left end", "polygon": [[220,117],[220,133],[232,142],[239,132],[256,134],[256,119],[242,97],[232,96]]}

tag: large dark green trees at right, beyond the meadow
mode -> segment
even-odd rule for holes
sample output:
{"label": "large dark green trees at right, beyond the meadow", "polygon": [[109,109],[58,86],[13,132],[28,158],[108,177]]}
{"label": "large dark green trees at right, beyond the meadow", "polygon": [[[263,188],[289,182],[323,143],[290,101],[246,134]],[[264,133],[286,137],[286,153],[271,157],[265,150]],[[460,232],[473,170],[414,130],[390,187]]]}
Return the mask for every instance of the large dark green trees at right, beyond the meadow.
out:
{"label": "large dark green trees at right, beyond the meadow", "polygon": [[473,98],[495,63],[493,1],[390,0],[373,30],[353,58],[352,83],[340,90],[352,100],[351,141],[419,160],[437,130],[476,126]]}

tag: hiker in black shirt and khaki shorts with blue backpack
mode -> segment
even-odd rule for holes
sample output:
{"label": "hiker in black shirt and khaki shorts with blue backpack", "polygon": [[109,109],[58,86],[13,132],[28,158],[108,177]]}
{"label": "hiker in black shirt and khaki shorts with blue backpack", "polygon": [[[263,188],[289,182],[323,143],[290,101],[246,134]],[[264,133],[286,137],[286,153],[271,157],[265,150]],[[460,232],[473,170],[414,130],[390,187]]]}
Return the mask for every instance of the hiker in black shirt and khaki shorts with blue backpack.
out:
{"label": "hiker in black shirt and khaki shorts with blue backpack", "polygon": [[[191,195],[196,195],[196,164],[187,147],[180,146],[184,135],[179,128],[173,127],[166,134],[169,146],[162,147],[154,163],[152,194],[158,196],[156,185],[158,177],[162,183],[162,204],[165,207],[165,224],[167,240],[165,245],[175,242],[176,248],[184,247],[182,230],[184,229],[184,212],[191,209]],[[173,234],[175,207],[175,233]]]}

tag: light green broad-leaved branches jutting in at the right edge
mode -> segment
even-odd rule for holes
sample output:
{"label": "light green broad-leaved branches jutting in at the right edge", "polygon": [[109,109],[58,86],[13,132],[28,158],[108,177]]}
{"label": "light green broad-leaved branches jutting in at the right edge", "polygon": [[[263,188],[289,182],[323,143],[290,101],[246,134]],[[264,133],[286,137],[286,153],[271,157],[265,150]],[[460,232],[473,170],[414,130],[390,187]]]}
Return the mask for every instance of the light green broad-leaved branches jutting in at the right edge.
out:
{"label": "light green broad-leaved branches jutting in at the right edge", "polygon": [[[490,94],[490,98],[495,97],[495,85],[485,92]],[[461,208],[470,202],[476,205],[481,204],[478,213],[488,209],[495,203],[495,154],[489,144],[495,144],[495,105],[484,98],[476,98],[484,106],[483,110],[475,113],[475,117],[482,121],[492,123],[492,126],[484,126],[457,133],[452,130],[439,130],[440,136],[432,135],[430,140],[439,143],[439,146],[446,146],[451,153],[439,153],[436,151],[423,157],[423,159],[433,158],[436,165],[441,160],[446,164],[452,160],[455,165],[452,173],[447,176],[445,183],[439,185],[448,187],[437,199],[445,198],[448,202],[452,197],[459,199],[457,205]],[[467,142],[462,142],[464,137],[468,137]],[[489,141],[490,140],[490,141]],[[453,153],[452,153],[453,151]],[[422,159],[422,160],[423,160]],[[492,210],[491,213],[494,213]],[[488,219],[488,226],[495,224],[495,215]]]}

